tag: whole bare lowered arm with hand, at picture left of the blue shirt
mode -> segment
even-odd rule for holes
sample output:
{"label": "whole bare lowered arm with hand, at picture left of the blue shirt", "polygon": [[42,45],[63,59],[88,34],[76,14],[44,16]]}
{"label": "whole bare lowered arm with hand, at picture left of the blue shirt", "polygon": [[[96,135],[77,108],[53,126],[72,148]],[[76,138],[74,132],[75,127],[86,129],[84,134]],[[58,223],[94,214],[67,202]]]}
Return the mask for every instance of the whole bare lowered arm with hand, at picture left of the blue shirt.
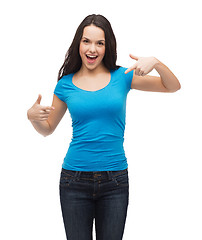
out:
{"label": "whole bare lowered arm with hand, at picture left of the blue shirt", "polygon": [[27,111],[27,117],[35,130],[44,137],[52,134],[64,116],[67,105],[56,95],[53,95],[51,107],[40,105],[41,95],[39,95],[34,105]]}

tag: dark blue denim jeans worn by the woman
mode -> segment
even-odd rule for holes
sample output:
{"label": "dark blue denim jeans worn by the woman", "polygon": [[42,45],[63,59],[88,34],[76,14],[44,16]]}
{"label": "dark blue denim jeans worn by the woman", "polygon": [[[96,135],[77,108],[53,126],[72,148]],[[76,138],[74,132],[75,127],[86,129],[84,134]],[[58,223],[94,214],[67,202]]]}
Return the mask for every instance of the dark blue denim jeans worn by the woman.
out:
{"label": "dark blue denim jeans worn by the woman", "polygon": [[60,202],[68,240],[121,240],[128,201],[128,170],[80,172],[62,169]]}

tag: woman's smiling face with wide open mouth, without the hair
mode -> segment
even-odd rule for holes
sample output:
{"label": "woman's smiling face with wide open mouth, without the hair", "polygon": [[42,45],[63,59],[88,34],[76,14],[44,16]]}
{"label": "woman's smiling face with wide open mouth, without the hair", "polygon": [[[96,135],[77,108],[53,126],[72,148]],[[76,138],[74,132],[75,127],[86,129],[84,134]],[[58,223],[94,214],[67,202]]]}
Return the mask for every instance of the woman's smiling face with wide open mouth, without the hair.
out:
{"label": "woman's smiling face with wide open mouth, without the hair", "polygon": [[84,28],[81,38],[79,53],[82,67],[94,70],[100,67],[105,55],[105,33],[94,25]]}

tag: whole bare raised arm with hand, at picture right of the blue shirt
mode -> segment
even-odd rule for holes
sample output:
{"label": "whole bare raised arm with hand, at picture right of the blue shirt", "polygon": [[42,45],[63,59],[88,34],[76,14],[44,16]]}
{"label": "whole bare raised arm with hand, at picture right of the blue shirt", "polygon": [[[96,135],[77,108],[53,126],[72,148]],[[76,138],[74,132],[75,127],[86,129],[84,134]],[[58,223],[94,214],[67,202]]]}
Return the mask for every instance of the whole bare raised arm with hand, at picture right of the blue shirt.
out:
{"label": "whole bare raised arm with hand, at picture right of the blue shirt", "polygon": [[[134,71],[131,83],[132,89],[152,92],[175,92],[181,88],[181,85],[175,75],[154,57],[135,57],[131,58],[137,60],[135,65],[128,68],[125,73]],[[160,77],[147,75],[153,69],[160,74]]]}

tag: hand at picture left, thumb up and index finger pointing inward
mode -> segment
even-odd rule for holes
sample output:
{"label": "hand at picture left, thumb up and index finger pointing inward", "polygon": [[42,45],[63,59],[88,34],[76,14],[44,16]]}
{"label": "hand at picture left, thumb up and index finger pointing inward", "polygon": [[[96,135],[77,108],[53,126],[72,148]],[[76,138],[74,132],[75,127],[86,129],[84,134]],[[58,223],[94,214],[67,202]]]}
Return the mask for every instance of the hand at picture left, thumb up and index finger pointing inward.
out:
{"label": "hand at picture left, thumb up and index finger pointing inward", "polygon": [[34,105],[27,111],[27,117],[30,121],[46,121],[55,108],[43,107],[40,105],[42,96],[39,94]]}

